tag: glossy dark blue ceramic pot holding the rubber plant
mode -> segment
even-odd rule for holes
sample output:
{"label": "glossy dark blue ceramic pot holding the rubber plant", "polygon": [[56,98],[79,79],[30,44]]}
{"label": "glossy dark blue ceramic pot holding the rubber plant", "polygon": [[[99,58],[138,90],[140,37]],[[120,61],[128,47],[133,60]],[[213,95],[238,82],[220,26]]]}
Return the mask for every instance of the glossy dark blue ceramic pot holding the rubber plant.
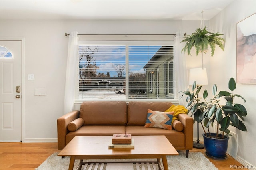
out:
{"label": "glossy dark blue ceramic pot holding the rubber plant", "polygon": [[[210,133],[210,134],[211,136],[216,136],[216,133]],[[218,139],[218,138],[210,138],[205,136],[205,134],[203,134],[203,137],[204,137],[204,148],[206,150],[205,153],[207,156],[214,159],[227,158],[226,152],[228,150],[228,139],[229,139],[228,136],[224,136],[224,139]],[[219,137],[222,137],[222,135],[219,134]]]}

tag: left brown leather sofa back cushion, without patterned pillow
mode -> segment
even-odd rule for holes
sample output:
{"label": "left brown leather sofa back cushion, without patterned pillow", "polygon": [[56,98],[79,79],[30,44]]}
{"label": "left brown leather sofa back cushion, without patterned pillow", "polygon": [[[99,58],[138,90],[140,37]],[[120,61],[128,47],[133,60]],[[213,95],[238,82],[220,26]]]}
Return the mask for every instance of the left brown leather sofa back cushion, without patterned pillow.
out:
{"label": "left brown leather sofa back cushion, without patterned pillow", "polygon": [[125,101],[85,101],[80,107],[84,125],[126,125]]}

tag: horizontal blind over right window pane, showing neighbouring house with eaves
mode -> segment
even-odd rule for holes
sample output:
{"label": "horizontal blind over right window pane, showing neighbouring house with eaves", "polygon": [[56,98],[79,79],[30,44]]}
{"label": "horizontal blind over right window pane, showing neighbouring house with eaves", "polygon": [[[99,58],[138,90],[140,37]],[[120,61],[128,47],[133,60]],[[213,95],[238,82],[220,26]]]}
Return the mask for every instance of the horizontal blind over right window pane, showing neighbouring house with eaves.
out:
{"label": "horizontal blind over right window pane, showing neighbouring house with eaves", "polygon": [[173,62],[173,46],[131,46],[129,64],[141,63],[144,74],[140,75],[143,78],[134,82],[129,76],[130,98],[173,98],[174,91],[170,88],[174,88],[172,86],[174,68],[170,65],[166,67],[166,63],[171,62]]}

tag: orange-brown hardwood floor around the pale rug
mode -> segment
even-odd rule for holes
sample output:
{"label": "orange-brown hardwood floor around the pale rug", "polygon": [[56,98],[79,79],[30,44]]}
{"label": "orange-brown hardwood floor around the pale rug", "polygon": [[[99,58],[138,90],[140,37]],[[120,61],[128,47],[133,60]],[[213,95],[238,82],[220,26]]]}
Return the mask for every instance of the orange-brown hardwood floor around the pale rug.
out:
{"label": "orange-brown hardwood floor around the pale rug", "polygon": [[[0,170],[34,170],[54,152],[59,152],[57,143],[0,142]],[[202,152],[204,154],[205,150],[193,148],[190,152]],[[229,155],[225,160],[207,158],[219,170],[230,170],[230,165],[241,166]]]}

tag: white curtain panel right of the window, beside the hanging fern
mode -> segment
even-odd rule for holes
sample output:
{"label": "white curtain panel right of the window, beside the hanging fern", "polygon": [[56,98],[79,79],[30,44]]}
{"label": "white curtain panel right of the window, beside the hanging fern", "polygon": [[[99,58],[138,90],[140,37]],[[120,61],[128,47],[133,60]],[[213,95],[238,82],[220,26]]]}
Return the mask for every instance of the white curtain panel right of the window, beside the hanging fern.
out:
{"label": "white curtain panel right of the window, beside the hanging fern", "polygon": [[[186,57],[184,52],[181,50],[184,47],[184,43],[180,43],[183,40],[184,33],[176,32],[176,37],[174,37],[174,56],[176,59],[176,81],[178,92],[188,89],[188,69],[186,66]],[[178,99],[182,94],[178,93]],[[186,105],[185,97],[180,99],[180,105]]]}

